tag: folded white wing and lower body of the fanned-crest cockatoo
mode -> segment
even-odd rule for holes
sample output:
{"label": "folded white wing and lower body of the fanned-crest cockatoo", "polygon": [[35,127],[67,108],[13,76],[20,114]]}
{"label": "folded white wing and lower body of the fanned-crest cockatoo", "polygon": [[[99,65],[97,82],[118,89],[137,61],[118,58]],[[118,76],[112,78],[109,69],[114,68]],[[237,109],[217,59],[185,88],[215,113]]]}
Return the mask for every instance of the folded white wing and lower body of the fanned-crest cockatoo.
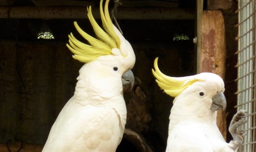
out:
{"label": "folded white wing and lower body of the fanned-crest cockatoo", "polygon": [[67,110],[71,107],[72,100],[73,98],[68,101],[54,123],[44,150],[115,151],[124,130],[122,125],[119,126],[120,117],[115,109],[86,105],[86,108],[77,108],[75,111]]}

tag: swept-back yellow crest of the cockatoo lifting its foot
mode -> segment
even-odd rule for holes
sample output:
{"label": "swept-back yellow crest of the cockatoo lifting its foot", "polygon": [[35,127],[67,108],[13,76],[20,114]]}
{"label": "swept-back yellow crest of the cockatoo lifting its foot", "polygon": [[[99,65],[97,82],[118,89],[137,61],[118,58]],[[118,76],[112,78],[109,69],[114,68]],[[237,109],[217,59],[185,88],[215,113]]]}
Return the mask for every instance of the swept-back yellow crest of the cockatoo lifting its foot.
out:
{"label": "swept-back yellow crest of the cockatoo lifting its foot", "polygon": [[184,89],[199,80],[192,77],[166,76],[159,70],[157,61],[158,58],[156,58],[154,62],[155,71],[152,69],[153,75],[156,77],[156,82],[164,92],[172,97],[177,97]]}

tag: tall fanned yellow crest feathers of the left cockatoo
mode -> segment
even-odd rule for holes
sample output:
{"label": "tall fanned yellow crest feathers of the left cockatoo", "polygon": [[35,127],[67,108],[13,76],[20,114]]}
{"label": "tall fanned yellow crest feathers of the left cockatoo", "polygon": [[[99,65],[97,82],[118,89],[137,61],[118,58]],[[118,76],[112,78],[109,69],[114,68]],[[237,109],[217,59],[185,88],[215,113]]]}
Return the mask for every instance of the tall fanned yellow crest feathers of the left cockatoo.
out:
{"label": "tall fanned yellow crest feathers of the left cockatoo", "polygon": [[87,16],[97,38],[94,38],[84,32],[76,22],[74,22],[76,30],[88,41],[90,45],[80,42],[72,33],[68,35],[69,44],[66,44],[66,46],[72,53],[74,53],[73,58],[80,62],[87,63],[96,60],[99,56],[112,54],[113,48],[120,49],[120,40],[114,32],[113,23],[108,13],[109,0],[106,0],[104,12],[102,3],[103,0],[100,1],[100,16],[105,31],[93,18],[91,6],[89,6],[89,8],[87,7]]}

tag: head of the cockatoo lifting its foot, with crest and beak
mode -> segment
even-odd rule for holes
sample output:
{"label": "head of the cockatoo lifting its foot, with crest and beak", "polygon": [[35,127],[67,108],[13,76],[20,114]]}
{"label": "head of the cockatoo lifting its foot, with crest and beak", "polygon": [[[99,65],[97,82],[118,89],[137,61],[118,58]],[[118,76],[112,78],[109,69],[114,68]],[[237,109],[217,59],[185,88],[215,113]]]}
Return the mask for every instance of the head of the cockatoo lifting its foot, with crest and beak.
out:
{"label": "head of the cockatoo lifting its foot, with crest and beak", "polygon": [[157,61],[158,58],[154,62],[153,75],[164,92],[175,97],[174,103],[179,102],[177,99],[182,99],[186,105],[193,107],[204,105],[211,111],[226,108],[226,99],[223,94],[224,82],[220,76],[201,73],[194,76],[170,77],[159,70]]}

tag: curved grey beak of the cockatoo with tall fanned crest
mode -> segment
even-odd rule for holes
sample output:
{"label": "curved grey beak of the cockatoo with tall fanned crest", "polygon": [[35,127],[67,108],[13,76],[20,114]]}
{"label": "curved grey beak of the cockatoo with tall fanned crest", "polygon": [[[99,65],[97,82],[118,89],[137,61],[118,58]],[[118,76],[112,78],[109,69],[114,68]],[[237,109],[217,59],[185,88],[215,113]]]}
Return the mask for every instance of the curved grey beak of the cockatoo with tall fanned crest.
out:
{"label": "curved grey beak of the cockatoo with tall fanned crest", "polygon": [[131,70],[126,71],[122,75],[123,91],[130,92],[134,85],[134,76]]}

